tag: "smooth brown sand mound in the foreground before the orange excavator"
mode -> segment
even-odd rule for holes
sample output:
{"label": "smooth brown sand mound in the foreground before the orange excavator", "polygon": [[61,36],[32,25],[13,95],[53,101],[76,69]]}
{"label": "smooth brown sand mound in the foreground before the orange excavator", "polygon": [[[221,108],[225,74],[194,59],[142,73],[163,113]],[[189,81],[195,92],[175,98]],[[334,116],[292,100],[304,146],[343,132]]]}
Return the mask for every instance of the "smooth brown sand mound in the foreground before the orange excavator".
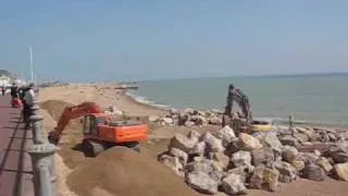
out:
{"label": "smooth brown sand mound in the foreground before the orange excavator", "polygon": [[67,179],[71,189],[79,195],[92,195],[101,188],[117,196],[198,195],[179,176],[156,159],[125,147],[111,148]]}

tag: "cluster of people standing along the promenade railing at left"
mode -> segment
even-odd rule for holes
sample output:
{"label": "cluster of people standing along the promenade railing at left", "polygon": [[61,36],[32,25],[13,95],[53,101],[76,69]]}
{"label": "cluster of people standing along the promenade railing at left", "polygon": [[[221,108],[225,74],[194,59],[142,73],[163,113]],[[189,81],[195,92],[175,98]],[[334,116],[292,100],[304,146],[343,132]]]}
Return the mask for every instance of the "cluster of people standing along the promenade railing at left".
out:
{"label": "cluster of people standing along the promenade railing at left", "polygon": [[20,99],[23,105],[22,118],[25,123],[25,128],[29,127],[30,108],[35,98],[35,84],[30,83],[28,86],[18,87],[16,83],[12,84],[11,97],[12,101]]}

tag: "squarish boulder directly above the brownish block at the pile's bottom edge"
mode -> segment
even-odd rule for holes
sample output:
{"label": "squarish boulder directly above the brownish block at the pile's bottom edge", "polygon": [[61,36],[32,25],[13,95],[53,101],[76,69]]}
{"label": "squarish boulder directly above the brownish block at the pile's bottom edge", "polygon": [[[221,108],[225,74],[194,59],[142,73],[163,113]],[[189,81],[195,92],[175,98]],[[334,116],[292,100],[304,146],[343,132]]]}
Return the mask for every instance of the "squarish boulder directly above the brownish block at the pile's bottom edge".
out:
{"label": "squarish boulder directly above the brownish block at the pile's bottom edge", "polygon": [[271,167],[275,161],[274,152],[271,148],[253,149],[251,156],[253,166],[265,164]]}

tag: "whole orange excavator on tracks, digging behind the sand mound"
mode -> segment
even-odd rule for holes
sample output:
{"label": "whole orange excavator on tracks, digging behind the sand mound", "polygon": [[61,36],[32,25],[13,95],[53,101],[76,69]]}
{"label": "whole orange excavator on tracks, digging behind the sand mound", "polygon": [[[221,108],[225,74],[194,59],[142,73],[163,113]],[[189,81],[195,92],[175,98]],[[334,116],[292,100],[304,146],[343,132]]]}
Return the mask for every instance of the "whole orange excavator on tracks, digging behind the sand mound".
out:
{"label": "whole orange excavator on tracks, digging behind the sand mound", "polygon": [[83,151],[88,157],[96,157],[113,146],[126,146],[140,151],[139,142],[148,138],[148,127],[142,122],[112,121],[95,102],[83,102],[66,107],[61,114],[57,127],[49,133],[48,139],[57,145],[72,119],[84,117]]}

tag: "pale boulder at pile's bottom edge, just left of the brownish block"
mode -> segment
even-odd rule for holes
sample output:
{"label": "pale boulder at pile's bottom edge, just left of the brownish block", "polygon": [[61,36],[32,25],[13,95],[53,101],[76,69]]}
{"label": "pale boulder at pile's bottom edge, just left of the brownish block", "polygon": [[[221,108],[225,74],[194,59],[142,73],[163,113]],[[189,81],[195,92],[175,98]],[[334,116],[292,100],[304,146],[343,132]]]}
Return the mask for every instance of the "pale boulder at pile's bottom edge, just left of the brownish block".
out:
{"label": "pale boulder at pile's bottom edge, just left of the brownish block", "polygon": [[227,195],[247,194],[247,188],[244,185],[243,176],[235,173],[232,173],[222,180],[221,189]]}

